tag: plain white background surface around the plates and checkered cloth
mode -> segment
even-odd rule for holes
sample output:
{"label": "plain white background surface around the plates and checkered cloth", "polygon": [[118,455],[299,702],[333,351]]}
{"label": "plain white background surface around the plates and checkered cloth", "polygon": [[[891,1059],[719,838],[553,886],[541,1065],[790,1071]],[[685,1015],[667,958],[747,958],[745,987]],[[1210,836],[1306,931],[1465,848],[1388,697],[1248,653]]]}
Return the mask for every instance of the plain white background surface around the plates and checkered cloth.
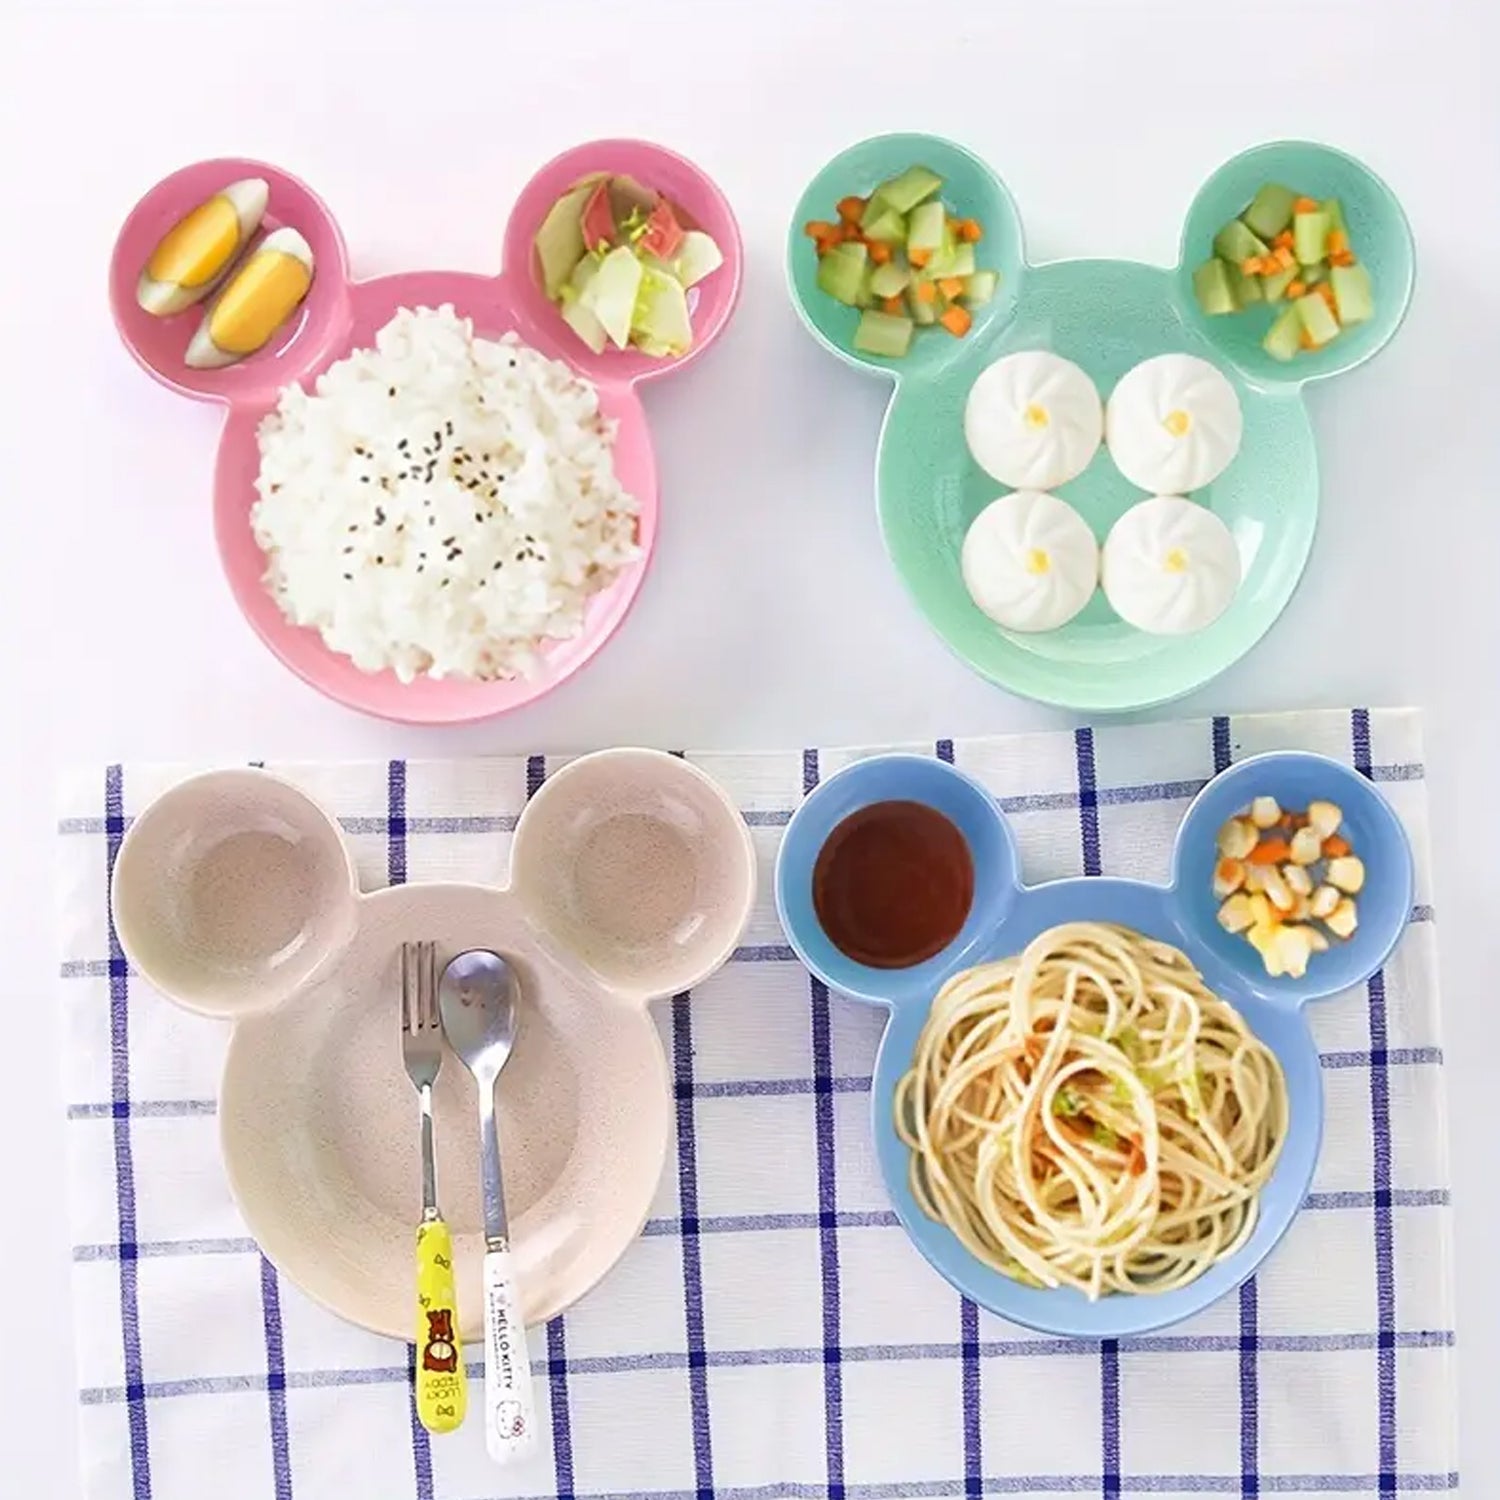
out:
{"label": "plain white background surface around the plates and checkered cloth", "polygon": [[[1172,711],[1428,711],[1464,1488],[1500,1492],[1500,9],[54,0],[0,15],[0,1490],[72,1500],[76,1484],[46,898],[56,765],[772,747],[1062,722],[972,678],[909,606],[872,504],[884,390],[820,352],[783,290],[806,180],[850,141],[909,128],[994,164],[1032,260],[1168,262],[1198,183],[1282,135],[1347,147],[1406,204],[1410,321],[1378,362],[1311,393],[1324,490],[1300,591],[1244,663]],[[646,398],[663,525],[634,614],[591,668],[489,726],[411,732],[322,702],[220,582],[218,418],[117,346],[114,231],[172,168],[262,156],[333,206],[357,274],[488,270],[531,171],[628,134],[700,162],[747,246],[735,326]]]}

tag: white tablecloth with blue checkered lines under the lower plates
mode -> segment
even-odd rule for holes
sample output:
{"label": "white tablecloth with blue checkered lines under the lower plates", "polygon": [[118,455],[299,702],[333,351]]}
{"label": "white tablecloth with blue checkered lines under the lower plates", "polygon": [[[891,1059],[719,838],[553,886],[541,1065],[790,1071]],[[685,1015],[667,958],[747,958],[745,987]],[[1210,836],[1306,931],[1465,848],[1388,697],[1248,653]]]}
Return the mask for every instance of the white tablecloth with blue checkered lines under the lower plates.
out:
{"label": "white tablecloth with blue checkered lines under the lower plates", "polygon": [[[1456,1491],[1449,1190],[1419,720],[1314,712],[936,741],[1000,798],[1029,880],[1162,879],[1216,768],[1302,747],[1366,771],[1418,852],[1389,968],[1314,1008],[1328,1132],[1260,1276],[1197,1320],[1058,1341],[976,1311],[908,1245],[876,1172],[880,1016],[810,982],[777,928],[782,826],[848,752],[694,756],[738,798],[760,900],[734,962],[658,1006],[676,1150],[640,1240],[532,1330],[546,1442],[429,1440],[410,1350],[308,1302],[246,1238],[219,1164],[225,1032],[128,972],[110,867],[186,766],[69,778],[62,1006],[90,1500],[771,1500]],[[336,812],[366,886],[504,878],[549,768],[278,765]],[[3,1488],[3,1486],[0,1486]]]}

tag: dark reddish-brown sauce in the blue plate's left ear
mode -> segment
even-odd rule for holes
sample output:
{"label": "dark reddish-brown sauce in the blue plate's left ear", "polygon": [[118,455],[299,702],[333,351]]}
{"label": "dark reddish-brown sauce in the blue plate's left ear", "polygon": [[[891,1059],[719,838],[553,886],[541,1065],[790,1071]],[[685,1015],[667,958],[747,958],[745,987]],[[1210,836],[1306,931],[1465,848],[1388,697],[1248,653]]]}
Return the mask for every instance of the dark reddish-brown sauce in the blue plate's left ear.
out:
{"label": "dark reddish-brown sauce in the blue plate's left ear", "polygon": [[974,856],[926,802],[872,802],[828,836],[813,910],[828,940],[872,969],[909,969],[958,936],[974,904]]}

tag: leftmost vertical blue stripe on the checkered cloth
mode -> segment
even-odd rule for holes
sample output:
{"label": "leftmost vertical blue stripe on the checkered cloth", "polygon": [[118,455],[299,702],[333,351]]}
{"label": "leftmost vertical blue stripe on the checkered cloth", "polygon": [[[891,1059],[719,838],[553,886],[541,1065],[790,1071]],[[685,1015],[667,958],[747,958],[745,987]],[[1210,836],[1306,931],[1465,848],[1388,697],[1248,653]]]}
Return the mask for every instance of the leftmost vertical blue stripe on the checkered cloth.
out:
{"label": "leftmost vertical blue stripe on the checkered cloth", "polygon": [[105,912],[110,939],[110,1096],[114,1119],[114,1196],[120,1244],[120,1341],[124,1358],[126,1422],[130,1434],[130,1492],[152,1496],[152,1443],[146,1425],[146,1368],[141,1359],[140,1264],[135,1258],[135,1162],[130,1150],[130,994],[124,950],[114,927],[110,885],[124,838],[124,771],[111,765],[104,777]]}

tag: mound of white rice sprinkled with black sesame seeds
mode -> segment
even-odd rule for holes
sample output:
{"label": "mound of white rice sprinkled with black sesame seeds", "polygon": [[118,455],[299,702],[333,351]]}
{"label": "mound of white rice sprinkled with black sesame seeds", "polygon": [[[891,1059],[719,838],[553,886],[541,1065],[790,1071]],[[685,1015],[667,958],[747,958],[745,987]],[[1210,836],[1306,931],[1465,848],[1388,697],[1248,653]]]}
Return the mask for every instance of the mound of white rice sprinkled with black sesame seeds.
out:
{"label": "mound of white rice sprinkled with black sesame seeds", "polygon": [[640,555],[614,438],[566,364],[404,308],[261,423],[266,585],[366,672],[531,675]]}

